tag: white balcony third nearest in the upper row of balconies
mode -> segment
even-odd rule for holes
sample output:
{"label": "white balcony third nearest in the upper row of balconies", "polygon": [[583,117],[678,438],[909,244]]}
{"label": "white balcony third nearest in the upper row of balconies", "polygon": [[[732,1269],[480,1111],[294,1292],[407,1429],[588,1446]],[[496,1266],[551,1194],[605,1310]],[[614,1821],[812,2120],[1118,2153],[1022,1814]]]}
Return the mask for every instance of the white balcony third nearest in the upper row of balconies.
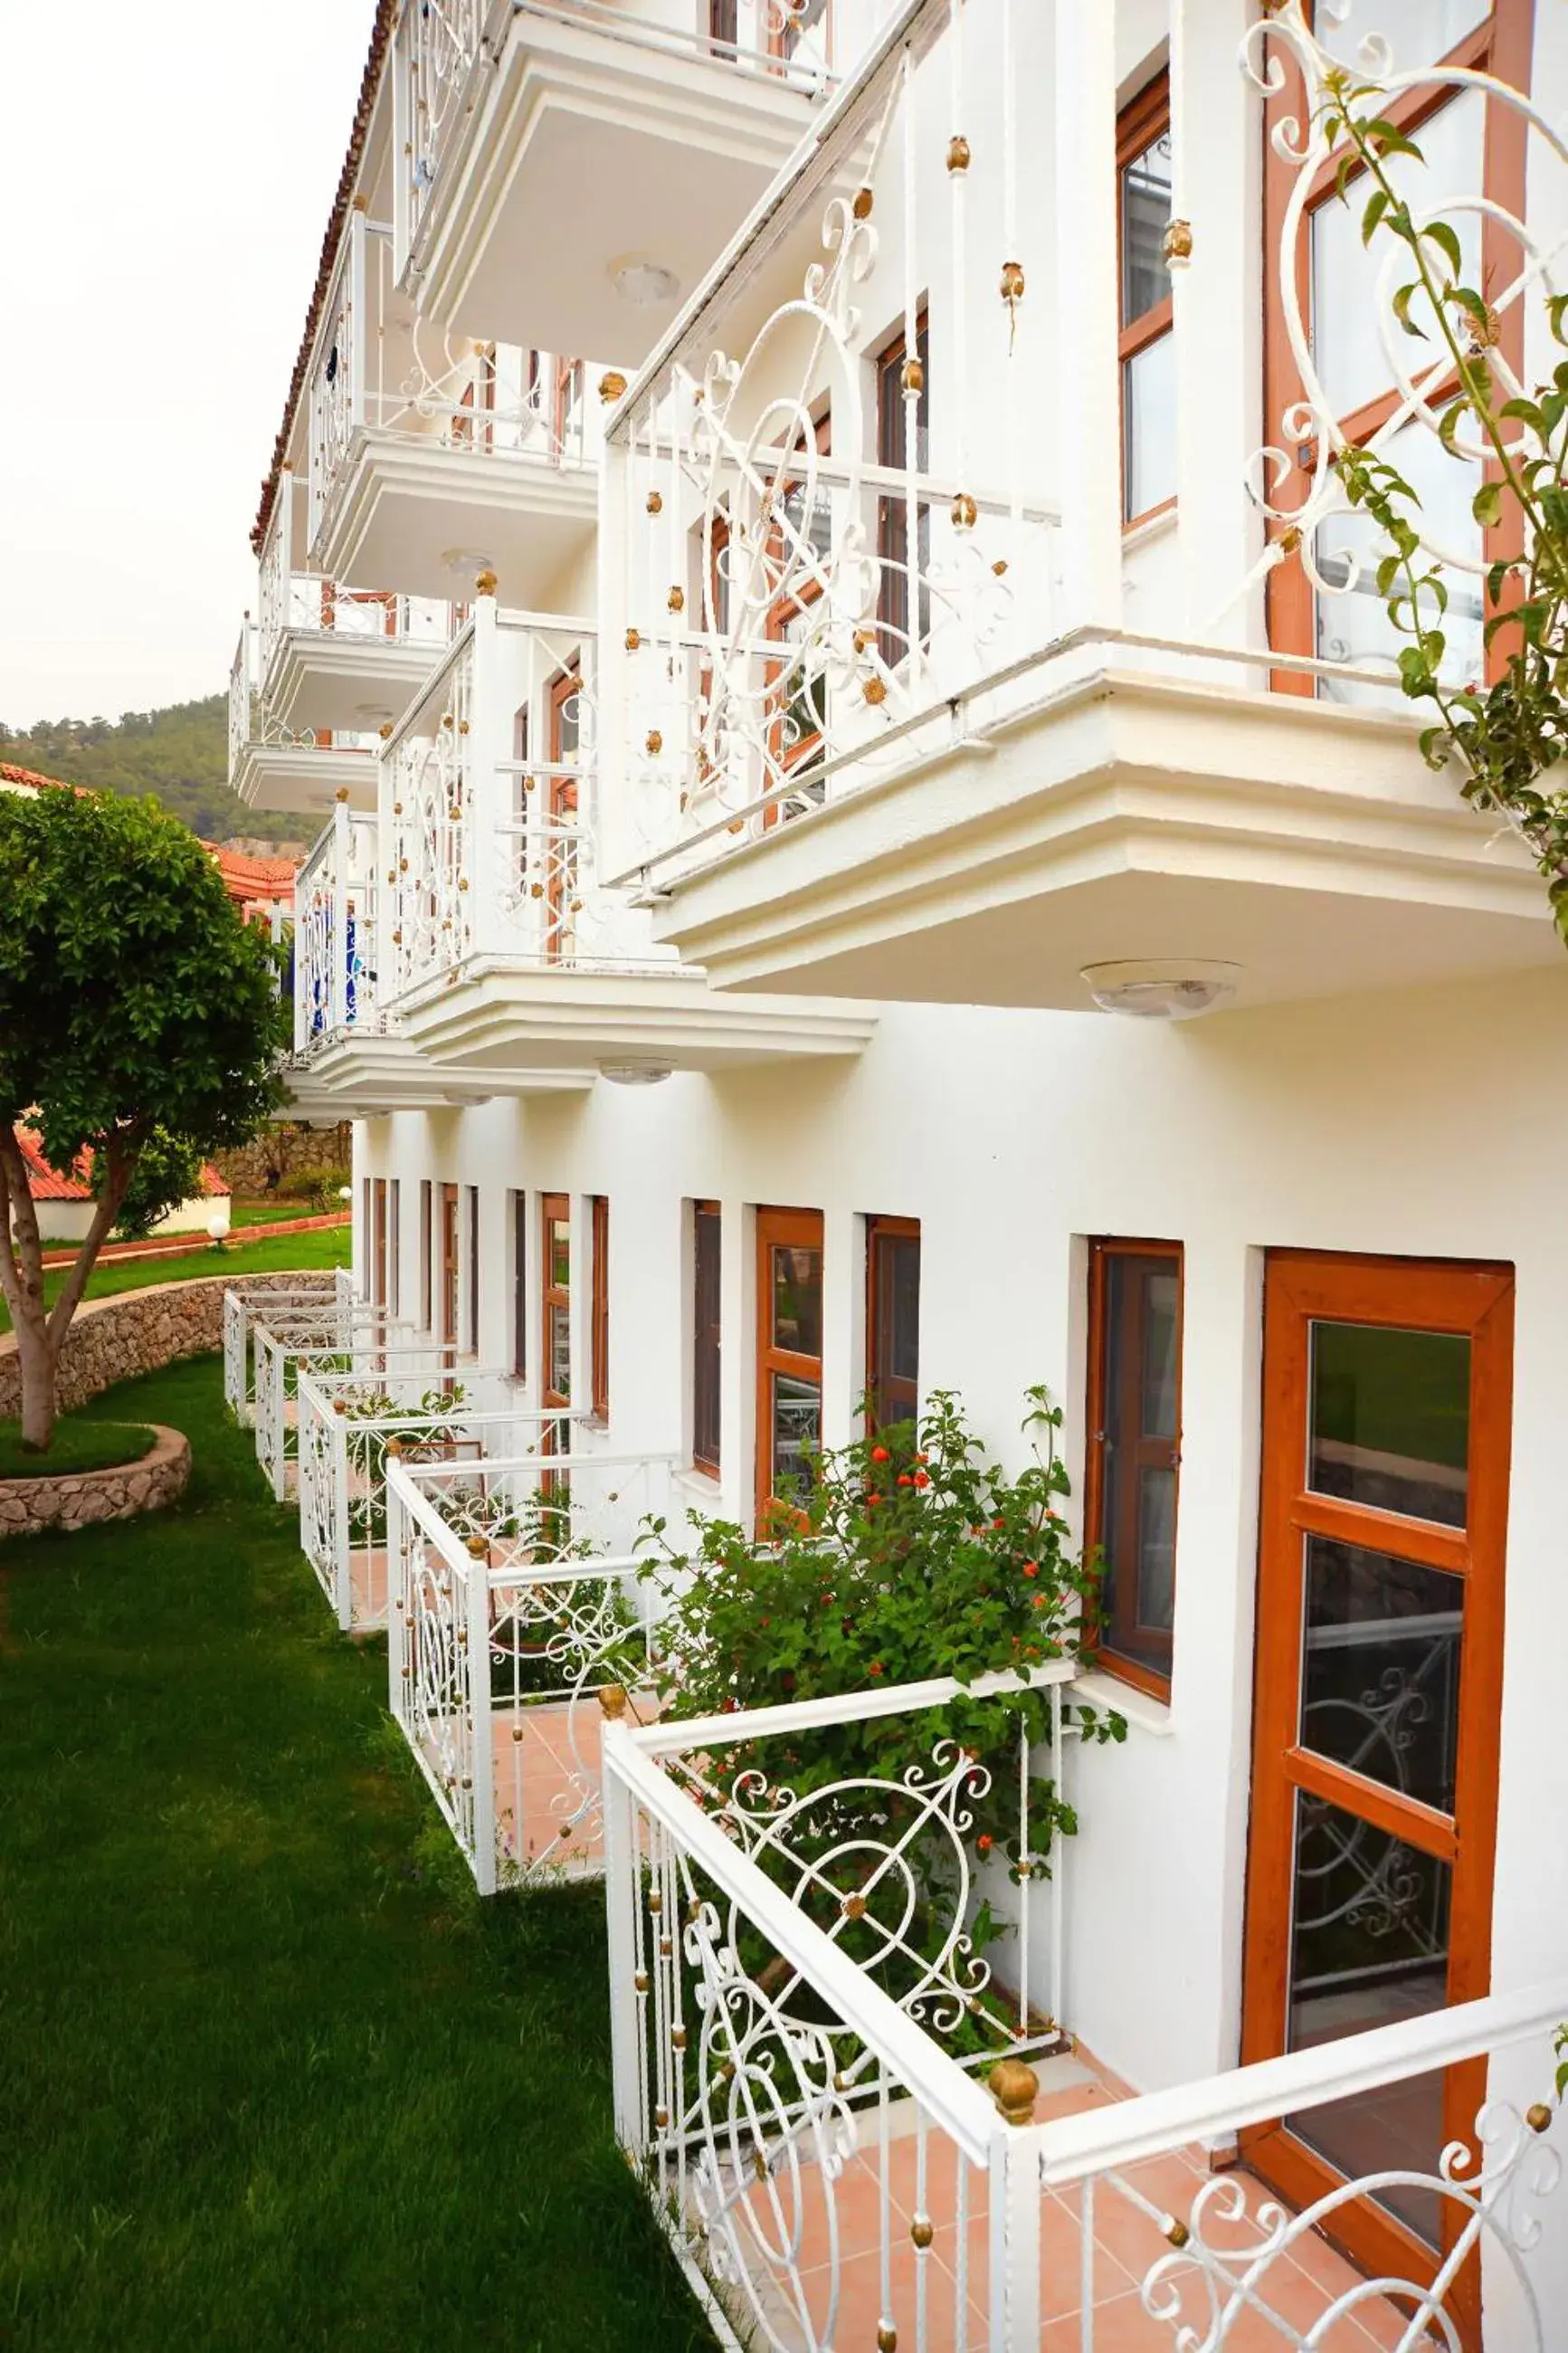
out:
{"label": "white balcony third nearest in the upper row of balconies", "polygon": [[284,471],[261,544],[259,694],[294,734],[374,734],[397,718],[451,640],[456,607],[296,569],[303,506],[303,489]]}

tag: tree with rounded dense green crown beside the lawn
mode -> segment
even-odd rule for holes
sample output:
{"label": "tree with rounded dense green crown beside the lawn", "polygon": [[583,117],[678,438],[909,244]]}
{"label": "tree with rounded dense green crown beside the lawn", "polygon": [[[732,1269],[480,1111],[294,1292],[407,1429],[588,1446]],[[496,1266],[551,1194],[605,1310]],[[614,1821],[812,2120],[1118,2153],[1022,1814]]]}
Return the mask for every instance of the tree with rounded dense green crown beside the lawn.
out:
{"label": "tree with rounded dense green crown beside the lawn", "polygon": [[[59,1351],[148,1141],[249,1141],[282,1099],[284,1021],[277,951],[155,802],[0,793],[0,1289],[24,1445],[49,1445]],[[19,1127],[52,1167],[94,1165],[92,1228],[52,1308]]]}

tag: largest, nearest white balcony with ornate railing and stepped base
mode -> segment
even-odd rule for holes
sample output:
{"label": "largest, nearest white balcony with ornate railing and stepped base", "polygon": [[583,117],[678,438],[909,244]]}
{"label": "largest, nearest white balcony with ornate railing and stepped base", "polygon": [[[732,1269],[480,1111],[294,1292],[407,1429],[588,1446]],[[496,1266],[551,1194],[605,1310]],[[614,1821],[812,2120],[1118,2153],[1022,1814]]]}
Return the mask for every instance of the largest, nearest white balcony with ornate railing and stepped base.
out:
{"label": "largest, nearest white balcony with ornate railing and stepped base", "polygon": [[[1006,52],[910,9],[611,416],[607,696],[644,661],[623,640],[658,659],[670,605],[701,652],[663,729],[679,788],[646,800],[663,838],[609,880],[733,993],[1091,1009],[1143,967],[1262,1005],[1556,962],[1528,852],[1420,758],[1429,713],[1396,692],[1333,471],[1295,520],[1258,487],[1300,487],[1312,445],[1253,456],[1260,89],[1201,9],[1173,35],[1166,193],[1192,259],[1159,261],[1168,391],[1124,456],[1114,132],[1138,61],[1128,9],[1084,16],[1016,14]],[[1058,89],[1027,141],[1025,71]],[[985,136],[943,158],[952,87]],[[867,115],[879,160],[846,205],[837,125]],[[802,224],[816,264],[780,299]],[[1408,461],[1427,424],[1413,388],[1380,445],[1403,431]],[[1150,452],[1164,496],[1138,489]],[[1479,532],[1450,562],[1462,659]]]}

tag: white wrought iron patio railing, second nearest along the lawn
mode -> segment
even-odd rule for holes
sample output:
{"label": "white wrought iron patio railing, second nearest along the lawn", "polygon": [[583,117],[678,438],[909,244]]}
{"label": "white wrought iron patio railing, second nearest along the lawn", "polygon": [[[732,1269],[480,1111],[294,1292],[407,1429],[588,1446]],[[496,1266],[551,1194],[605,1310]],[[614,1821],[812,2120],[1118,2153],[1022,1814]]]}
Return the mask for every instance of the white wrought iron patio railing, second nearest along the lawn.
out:
{"label": "white wrought iron patio railing, second nearest along the lawn", "polygon": [[670,1461],[386,1473],[390,1708],[480,1894],[602,1868],[602,1727],[656,1706],[635,1537]]}

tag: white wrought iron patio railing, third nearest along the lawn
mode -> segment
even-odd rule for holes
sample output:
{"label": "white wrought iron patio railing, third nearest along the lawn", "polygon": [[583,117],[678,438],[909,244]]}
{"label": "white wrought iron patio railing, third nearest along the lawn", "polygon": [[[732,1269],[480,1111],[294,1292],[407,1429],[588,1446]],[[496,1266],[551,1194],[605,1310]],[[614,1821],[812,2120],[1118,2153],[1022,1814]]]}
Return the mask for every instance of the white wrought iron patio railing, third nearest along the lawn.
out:
{"label": "white wrought iron patio railing, third nearest along the lawn", "polygon": [[505,1372],[301,1372],[299,1541],[339,1626],[383,1626],[388,1602],[388,1461],[515,1457],[569,1449],[571,1414],[484,1407]]}

